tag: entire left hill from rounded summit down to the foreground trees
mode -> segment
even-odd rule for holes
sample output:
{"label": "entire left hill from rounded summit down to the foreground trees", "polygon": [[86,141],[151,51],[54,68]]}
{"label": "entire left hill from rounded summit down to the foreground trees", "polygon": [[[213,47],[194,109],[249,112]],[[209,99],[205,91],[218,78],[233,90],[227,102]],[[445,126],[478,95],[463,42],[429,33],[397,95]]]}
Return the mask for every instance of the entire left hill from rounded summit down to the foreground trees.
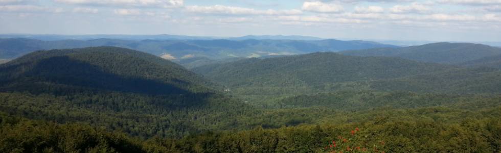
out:
{"label": "entire left hill from rounded summit down to the foreground trees", "polygon": [[246,129],[234,117],[249,107],[212,87],[198,74],[136,50],[46,50],[0,65],[0,112],[142,138]]}

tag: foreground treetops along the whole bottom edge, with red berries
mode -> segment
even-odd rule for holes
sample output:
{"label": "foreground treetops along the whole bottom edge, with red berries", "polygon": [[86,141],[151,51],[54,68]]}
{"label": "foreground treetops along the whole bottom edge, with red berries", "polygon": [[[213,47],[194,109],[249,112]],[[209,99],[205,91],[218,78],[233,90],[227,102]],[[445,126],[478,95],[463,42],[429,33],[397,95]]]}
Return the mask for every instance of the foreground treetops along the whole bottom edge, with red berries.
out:
{"label": "foreground treetops along the whole bottom edge, with red berries", "polygon": [[[501,108],[468,111],[423,108],[381,110],[357,122],[326,122],[277,129],[204,132],[180,139],[140,140],[83,123],[55,124],[0,114],[2,152],[498,152]],[[435,119],[417,116],[436,116]],[[495,115],[497,114],[497,115]],[[353,116],[352,115],[352,116]],[[412,117],[413,119],[406,119]],[[330,147],[334,143],[336,146]]]}

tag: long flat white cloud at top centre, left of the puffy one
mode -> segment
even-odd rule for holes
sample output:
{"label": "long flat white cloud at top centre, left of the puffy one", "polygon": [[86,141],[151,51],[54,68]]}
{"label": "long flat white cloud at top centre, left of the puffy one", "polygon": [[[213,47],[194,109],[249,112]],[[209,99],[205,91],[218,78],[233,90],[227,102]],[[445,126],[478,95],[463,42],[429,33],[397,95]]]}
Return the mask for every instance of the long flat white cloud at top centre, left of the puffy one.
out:
{"label": "long flat white cloud at top centre, left of the puffy one", "polygon": [[187,6],[186,10],[193,13],[227,14],[227,15],[299,15],[300,10],[255,10],[249,8],[214,6]]}

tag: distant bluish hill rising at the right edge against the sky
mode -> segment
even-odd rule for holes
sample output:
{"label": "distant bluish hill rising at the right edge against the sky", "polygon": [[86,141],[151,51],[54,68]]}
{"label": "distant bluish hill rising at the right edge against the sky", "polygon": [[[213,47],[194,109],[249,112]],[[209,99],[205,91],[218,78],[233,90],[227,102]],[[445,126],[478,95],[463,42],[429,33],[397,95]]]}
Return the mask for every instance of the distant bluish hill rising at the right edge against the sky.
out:
{"label": "distant bluish hill rising at the right edge against the sky", "polygon": [[421,62],[460,64],[466,61],[501,55],[501,48],[474,43],[440,42],[402,48],[347,50],[340,52],[340,54],[363,57],[400,57]]}

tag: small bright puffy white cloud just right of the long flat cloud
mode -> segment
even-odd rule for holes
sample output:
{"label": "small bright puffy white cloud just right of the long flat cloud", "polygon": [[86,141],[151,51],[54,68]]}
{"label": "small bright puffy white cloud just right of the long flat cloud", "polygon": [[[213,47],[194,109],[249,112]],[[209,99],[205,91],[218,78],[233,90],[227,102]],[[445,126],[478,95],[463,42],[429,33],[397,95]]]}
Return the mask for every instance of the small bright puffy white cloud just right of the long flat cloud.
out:
{"label": "small bright puffy white cloud just right of the long flat cloud", "polygon": [[340,13],[344,11],[343,6],[335,3],[304,2],[302,9],[308,12],[319,13]]}

